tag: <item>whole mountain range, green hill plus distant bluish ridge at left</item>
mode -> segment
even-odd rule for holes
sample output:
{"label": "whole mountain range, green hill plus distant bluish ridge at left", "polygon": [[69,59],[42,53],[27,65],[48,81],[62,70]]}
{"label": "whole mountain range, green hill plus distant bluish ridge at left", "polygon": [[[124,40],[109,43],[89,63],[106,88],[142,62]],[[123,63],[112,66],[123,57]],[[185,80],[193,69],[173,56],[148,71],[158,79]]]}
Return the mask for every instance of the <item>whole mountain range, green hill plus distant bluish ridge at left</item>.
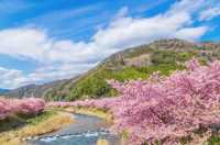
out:
{"label": "whole mountain range, green hill plus distant bluish ridge at left", "polygon": [[72,79],[42,86],[30,85],[7,93],[12,97],[43,97],[47,100],[76,100],[114,96],[117,92],[106,82],[147,78],[153,71],[168,75],[184,69],[191,57],[201,63],[220,58],[220,44],[191,43],[183,40],[161,40],[116,53],[86,74]]}

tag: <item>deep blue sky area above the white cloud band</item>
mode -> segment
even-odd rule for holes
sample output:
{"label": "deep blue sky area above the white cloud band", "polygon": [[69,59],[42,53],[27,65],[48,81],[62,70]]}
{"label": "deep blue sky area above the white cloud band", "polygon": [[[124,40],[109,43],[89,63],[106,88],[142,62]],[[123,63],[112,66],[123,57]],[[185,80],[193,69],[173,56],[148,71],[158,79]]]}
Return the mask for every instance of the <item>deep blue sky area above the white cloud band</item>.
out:
{"label": "deep blue sky area above the white cloud band", "polygon": [[[0,29],[35,26],[56,38],[89,41],[123,7],[132,16],[152,16],[165,11],[175,0],[10,0],[2,1]],[[156,7],[156,9],[155,9]]]}

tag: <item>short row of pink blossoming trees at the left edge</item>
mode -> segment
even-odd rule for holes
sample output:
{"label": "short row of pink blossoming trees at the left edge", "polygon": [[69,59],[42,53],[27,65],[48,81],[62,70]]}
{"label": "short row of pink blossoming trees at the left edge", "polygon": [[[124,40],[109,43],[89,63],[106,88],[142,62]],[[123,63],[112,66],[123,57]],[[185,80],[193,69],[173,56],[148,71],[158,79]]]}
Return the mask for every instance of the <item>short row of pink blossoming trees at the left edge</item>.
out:
{"label": "short row of pink blossoming trees at the left edge", "polygon": [[13,114],[34,115],[42,112],[45,101],[37,98],[6,99],[0,98],[0,121]]}

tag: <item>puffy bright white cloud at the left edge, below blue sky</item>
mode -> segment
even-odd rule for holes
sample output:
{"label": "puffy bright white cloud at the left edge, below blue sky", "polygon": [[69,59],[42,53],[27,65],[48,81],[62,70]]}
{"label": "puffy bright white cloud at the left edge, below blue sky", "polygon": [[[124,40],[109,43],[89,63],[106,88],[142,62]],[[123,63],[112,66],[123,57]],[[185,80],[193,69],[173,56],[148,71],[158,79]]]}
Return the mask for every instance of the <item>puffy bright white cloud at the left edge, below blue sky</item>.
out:
{"label": "puffy bright white cloud at the left edge, below blue sky", "polygon": [[51,48],[45,32],[34,29],[9,29],[0,31],[0,53],[18,58],[42,60]]}

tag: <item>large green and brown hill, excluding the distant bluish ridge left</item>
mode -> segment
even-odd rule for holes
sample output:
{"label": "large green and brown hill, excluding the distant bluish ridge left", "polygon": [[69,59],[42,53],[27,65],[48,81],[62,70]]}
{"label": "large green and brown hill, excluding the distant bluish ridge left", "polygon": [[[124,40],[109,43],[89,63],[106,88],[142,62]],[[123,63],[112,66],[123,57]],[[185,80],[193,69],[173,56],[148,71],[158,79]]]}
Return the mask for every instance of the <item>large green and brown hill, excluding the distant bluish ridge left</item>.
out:
{"label": "large green and brown hill, excluding the distant bluish ridge left", "polygon": [[103,60],[98,67],[80,77],[69,88],[68,94],[52,91],[47,92],[45,97],[48,100],[111,97],[116,94],[116,91],[106,82],[108,79],[116,79],[119,81],[139,78],[144,79],[154,71],[168,75],[173,70],[184,69],[182,64],[193,56],[198,57],[201,62],[218,57],[204,51],[210,51],[208,47],[196,46],[178,40],[173,40],[173,43],[174,42],[176,45],[170,45],[172,41],[165,44],[162,44],[163,41],[161,43],[158,42],[158,45],[162,44],[162,46],[170,45],[170,47],[167,48],[160,47],[153,43],[117,53]]}

